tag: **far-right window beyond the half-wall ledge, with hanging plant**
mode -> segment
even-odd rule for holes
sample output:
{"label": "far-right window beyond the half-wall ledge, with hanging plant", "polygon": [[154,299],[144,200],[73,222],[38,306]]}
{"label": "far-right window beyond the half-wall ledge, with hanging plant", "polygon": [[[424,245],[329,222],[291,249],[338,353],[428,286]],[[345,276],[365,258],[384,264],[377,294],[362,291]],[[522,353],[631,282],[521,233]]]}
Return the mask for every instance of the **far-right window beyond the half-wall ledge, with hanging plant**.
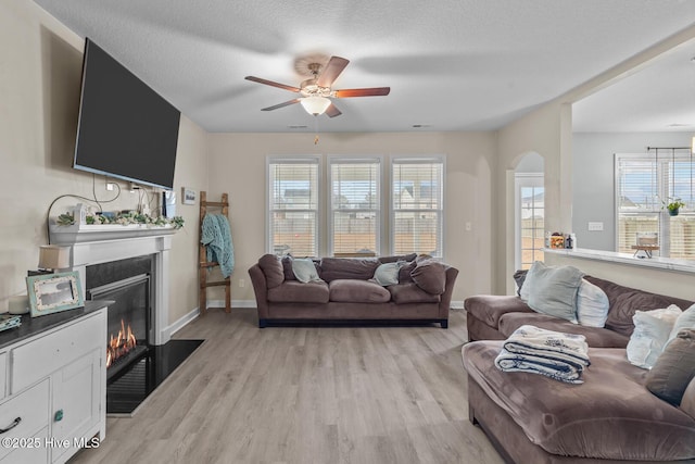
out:
{"label": "far-right window beyond the half-wall ledge, with hanging plant", "polygon": [[[660,255],[695,260],[693,159],[690,150],[616,154],[617,250],[633,253],[637,234],[656,234]],[[685,209],[670,216],[664,204],[680,199]]]}

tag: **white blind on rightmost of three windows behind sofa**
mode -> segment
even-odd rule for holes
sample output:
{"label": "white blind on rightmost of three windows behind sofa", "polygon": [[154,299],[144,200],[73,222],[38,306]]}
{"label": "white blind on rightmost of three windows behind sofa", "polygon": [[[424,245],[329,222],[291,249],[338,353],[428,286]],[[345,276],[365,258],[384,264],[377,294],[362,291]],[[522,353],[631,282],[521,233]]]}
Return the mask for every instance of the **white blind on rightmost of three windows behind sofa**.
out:
{"label": "white blind on rightmost of three windows behind sofa", "polygon": [[393,253],[442,256],[443,160],[394,159],[391,183]]}

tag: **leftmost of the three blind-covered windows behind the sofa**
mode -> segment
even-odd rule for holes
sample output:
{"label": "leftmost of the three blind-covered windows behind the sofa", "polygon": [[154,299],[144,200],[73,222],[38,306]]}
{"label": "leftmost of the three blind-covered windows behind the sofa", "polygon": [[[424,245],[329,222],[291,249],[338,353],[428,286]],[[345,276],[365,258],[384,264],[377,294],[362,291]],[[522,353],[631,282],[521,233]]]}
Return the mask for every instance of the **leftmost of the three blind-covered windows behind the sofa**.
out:
{"label": "leftmost of the three blind-covered windows behind the sofa", "polygon": [[318,161],[268,159],[268,248],[276,254],[318,255]]}

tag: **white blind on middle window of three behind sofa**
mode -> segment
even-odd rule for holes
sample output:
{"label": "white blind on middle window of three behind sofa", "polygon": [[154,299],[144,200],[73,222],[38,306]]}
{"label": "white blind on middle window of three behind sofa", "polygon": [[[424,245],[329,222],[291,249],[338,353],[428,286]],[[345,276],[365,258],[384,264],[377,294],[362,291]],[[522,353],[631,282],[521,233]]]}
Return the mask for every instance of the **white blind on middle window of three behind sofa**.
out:
{"label": "white blind on middle window of three behind sofa", "polygon": [[380,178],[378,158],[330,160],[333,255],[379,254]]}

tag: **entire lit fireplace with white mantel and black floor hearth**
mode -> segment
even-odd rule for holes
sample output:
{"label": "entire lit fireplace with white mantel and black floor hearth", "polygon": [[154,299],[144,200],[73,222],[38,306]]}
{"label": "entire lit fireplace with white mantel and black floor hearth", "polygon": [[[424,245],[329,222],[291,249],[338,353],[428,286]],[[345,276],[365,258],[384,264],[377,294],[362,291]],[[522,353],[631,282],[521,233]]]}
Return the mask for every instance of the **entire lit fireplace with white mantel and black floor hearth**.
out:
{"label": "entire lit fireplace with white mantel and black floor hearth", "polygon": [[[71,267],[87,298],[111,300],[108,333],[119,359],[106,369],[106,413],[132,415],[202,340],[172,340],[179,322],[168,321],[172,227],[50,225],[51,242],[71,247]],[[122,322],[123,321],[123,322]],[[169,325],[170,324],[170,325]],[[128,337],[128,326],[132,337]],[[130,338],[134,349],[118,340]],[[135,340],[132,341],[132,338]],[[111,346],[104,340],[104,350]]]}

